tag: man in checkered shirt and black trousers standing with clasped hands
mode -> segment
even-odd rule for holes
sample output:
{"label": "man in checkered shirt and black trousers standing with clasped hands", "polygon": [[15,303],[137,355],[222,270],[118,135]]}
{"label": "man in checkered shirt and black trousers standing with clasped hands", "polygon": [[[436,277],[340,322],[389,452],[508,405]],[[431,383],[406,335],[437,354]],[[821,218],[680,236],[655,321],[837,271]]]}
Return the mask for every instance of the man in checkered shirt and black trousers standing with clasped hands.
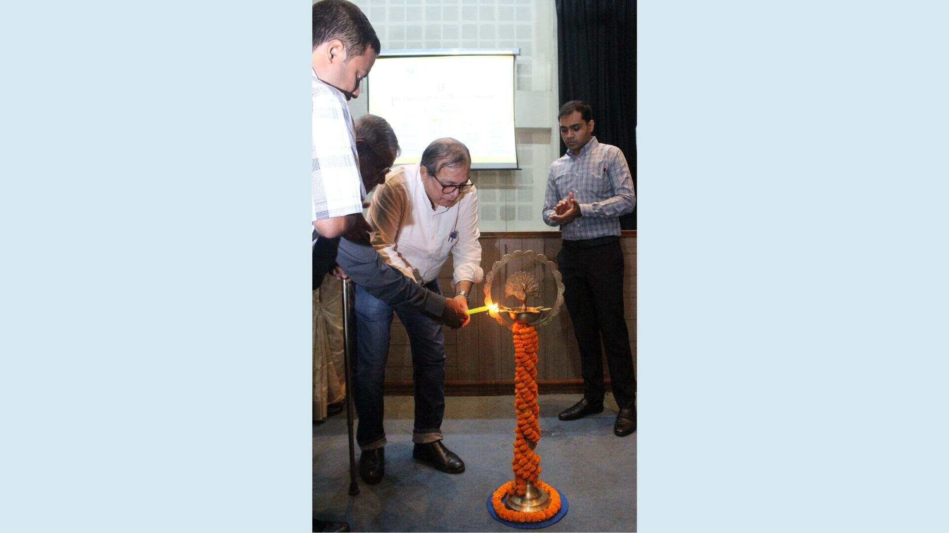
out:
{"label": "man in checkered shirt and black trousers standing with clasped hands", "polygon": [[593,137],[589,105],[568,101],[557,119],[568,150],[550,165],[544,222],[559,226],[564,239],[557,264],[584,377],[583,399],[559,417],[575,420],[603,412],[602,336],[620,407],[613,432],[625,436],[636,431],[636,374],[623,317],[619,217],[636,207],[633,178],[623,152]]}

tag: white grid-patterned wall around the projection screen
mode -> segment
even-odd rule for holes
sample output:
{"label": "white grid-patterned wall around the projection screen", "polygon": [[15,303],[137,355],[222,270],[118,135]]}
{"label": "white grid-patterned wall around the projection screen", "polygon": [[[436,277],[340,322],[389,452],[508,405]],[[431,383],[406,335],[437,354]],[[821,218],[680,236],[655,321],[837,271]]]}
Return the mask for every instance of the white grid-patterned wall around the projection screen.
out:
{"label": "white grid-patterned wall around the projection screen", "polygon": [[[472,173],[482,231],[554,230],[541,209],[547,171],[559,154],[557,24],[545,0],[354,0],[376,29],[383,50],[520,48],[515,123],[522,170]],[[370,77],[372,74],[370,73]],[[353,117],[366,99],[350,101]],[[399,132],[396,132],[399,135]]]}

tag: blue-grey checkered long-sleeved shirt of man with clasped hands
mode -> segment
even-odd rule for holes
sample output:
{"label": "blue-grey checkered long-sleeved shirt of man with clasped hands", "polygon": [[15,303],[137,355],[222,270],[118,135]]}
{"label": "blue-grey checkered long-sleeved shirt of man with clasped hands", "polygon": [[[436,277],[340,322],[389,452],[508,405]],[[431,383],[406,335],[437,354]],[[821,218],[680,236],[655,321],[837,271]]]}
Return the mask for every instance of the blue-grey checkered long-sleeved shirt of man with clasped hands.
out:
{"label": "blue-grey checkered long-sleeved shirt of man with clasped hands", "polygon": [[557,202],[573,193],[580,204],[581,216],[560,226],[561,237],[568,241],[595,239],[620,234],[619,216],[636,207],[633,176],[623,151],[610,144],[600,144],[594,137],[580,149],[580,154],[560,157],[550,164],[547,194],[544,196],[544,222],[550,220]]}

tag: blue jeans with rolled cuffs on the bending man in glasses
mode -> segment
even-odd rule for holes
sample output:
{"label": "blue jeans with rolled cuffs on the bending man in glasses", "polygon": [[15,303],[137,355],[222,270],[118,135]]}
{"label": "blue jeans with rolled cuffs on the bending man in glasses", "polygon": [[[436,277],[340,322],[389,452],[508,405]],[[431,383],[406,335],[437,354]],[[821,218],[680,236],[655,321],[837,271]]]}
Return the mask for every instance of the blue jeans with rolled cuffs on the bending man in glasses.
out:
{"label": "blue jeans with rolled cuffs on the bending man in glasses", "polygon": [[[424,285],[441,294],[438,282]],[[385,446],[382,428],[384,402],[382,381],[389,357],[389,328],[393,307],[356,286],[356,331],[359,340],[355,376],[356,412],[359,426],[356,442],[360,450]],[[415,382],[415,430],[412,441],[429,443],[441,440],[441,420],[445,415],[445,334],[441,324],[413,309],[395,309],[405,326],[412,347]]]}

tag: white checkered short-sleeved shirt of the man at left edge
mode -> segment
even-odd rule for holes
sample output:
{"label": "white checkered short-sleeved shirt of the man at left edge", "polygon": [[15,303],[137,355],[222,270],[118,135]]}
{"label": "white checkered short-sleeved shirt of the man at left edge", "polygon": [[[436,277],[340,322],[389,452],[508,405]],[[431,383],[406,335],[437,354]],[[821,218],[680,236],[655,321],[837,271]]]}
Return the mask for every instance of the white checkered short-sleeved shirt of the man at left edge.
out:
{"label": "white checkered short-sleeved shirt of the man at left edge", "polygon": [[313,220],[363,212],[365,186],[346,99],[313,72]]}

